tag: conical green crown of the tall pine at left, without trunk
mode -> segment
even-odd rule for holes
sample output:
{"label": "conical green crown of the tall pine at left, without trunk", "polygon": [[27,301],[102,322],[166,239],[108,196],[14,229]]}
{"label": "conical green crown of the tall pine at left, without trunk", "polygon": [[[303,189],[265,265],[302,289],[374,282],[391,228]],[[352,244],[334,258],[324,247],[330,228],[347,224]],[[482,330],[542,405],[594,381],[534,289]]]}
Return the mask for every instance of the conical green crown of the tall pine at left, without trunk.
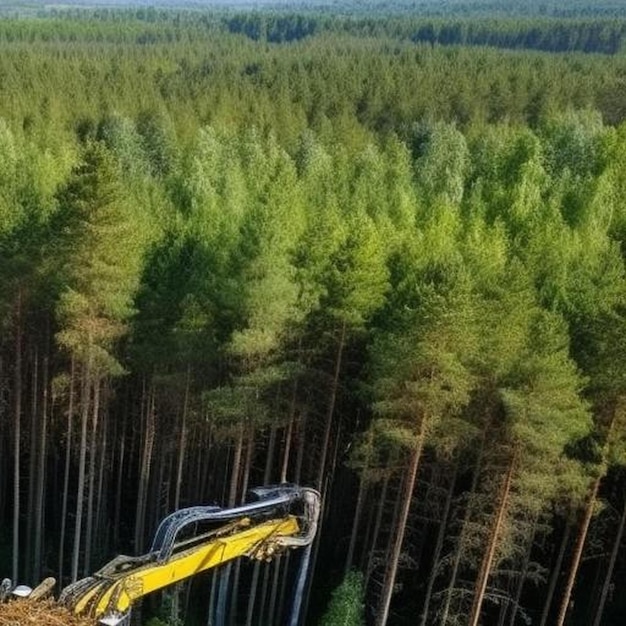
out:
{"label": "conical green crown of the tall pine at left, without trunk", "polygon": [[132,312],[141,249],[124,205],[116,164],[99,143],[85,149],[58,194],[55,226],[65,286],[59,342],[104,372],[120,371],[113,343]]}

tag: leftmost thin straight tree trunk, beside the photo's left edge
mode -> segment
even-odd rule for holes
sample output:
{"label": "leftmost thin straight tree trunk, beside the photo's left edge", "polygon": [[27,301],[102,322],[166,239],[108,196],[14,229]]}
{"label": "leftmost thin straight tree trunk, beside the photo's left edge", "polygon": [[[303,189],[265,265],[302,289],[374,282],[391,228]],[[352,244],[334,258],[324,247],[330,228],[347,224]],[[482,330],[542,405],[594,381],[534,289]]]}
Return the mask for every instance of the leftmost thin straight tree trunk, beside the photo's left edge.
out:
{"label": "leftmost thin straight tree trunk, beside the photo's left edge", "polygon": [[15,371],[13,383],[13,580],[19,577],[20,557],[20,453],[22,421],[22,291],[17,294],[15,309]]}

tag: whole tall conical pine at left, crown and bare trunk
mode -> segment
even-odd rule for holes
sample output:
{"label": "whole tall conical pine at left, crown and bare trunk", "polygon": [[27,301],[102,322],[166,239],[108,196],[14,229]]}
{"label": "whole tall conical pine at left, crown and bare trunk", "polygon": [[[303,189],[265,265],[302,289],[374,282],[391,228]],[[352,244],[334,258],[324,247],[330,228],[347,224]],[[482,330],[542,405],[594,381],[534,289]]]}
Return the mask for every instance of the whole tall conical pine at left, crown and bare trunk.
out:
{"label": "whole tall conical pine at left, crown and bare trunk", "polygon": [[[82,378],[73,580],[78,576],[83,541],[86,479],[90,484],[88,531],[93,524],[91,505],[102,381],[123,371],[114,347],[125,332],[125,322],[132,312],[140,268],[141,250],[118,180],[116,164],[106,148],[99,143],[89,144],[82,163],[59,191],[55,217],[65,281],[57,307],[60,324],[57,340],[80,364]],[[90,416],[92,441],[89,443]],[[85,546],[85,569],[89,569],[90,534],[85,538],[89,544]]]}

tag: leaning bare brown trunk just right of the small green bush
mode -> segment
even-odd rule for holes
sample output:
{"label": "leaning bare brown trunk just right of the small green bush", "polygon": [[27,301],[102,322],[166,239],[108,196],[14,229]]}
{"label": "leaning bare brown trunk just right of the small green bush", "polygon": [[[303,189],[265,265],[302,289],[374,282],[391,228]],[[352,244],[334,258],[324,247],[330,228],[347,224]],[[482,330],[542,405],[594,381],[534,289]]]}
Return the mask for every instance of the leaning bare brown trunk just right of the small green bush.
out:
{"label": "leaning bare brown trunk just right of the small green bush", "polygon": [[402,553],[402,543],[406,532],[406,524],[409,519],[409,510],[413,497],[413,489],[417,480],[417,470],[419,469],[422,450],[424,448],[424,440],[426,438],[426,417],[420,420],[419,432],[415,441],[415,448],[411,451],[409,458],[409,467],[407,477],[404,481],[404,490],[402,493],[402,506],[400,509],[400,517],[398,525],[395,529],[395,538],[391,548],[389,563],[385,569],[385,577],[383,579],[383,588],[381,592],[380,603],[376,618],[375,626],[385,626],[389,617],[389,608],[391,607],[391,597],[396,582],[396,574],[398,572],[398,564]]}

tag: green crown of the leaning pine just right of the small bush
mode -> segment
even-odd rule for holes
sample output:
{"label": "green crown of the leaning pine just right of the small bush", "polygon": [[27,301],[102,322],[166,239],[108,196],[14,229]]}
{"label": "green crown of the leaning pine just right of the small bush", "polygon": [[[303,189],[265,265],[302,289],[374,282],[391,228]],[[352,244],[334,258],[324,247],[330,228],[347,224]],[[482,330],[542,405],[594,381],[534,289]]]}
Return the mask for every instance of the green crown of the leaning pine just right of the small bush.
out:
{"label": "green crown of the leaning pine just right of the small bush", "polygon": [[380,445],[413,447],[414,433],[425,429],[429,436],[441,435],[429,441],[449,453],[459,443],[455,437],[467,434],[457,418],[474,386],[473,297],[463,278],[436,285],[416,281],[410,262],[404,271],[406,284],[396,291],[402,300],[391,300],[399,313],[371,347],[373,407],[380,416],[373,432]]}

